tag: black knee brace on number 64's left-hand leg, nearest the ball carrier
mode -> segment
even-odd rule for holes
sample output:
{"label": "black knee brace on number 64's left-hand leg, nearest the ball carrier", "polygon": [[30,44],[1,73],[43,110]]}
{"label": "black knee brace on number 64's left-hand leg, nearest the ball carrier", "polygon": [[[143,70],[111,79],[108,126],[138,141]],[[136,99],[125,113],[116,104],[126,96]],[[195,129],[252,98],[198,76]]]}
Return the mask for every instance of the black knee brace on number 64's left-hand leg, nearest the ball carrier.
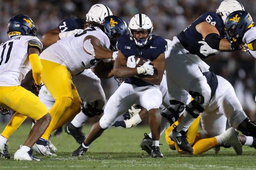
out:
{"label": "black knee brace on number 64's left-hand leg, nearest the ball carrier", "polygon": [[[185,104],[177,100],[170,100],[170,104],[174,105],[174,108],[172,108],[171,106],[168,107],[164,110],[164,112],[161,113],[161,115],[166,118],[171,124],[173,124],[179,119],[180,115],[184,111]],[[168,112],[169,114],[166,114]]]}

